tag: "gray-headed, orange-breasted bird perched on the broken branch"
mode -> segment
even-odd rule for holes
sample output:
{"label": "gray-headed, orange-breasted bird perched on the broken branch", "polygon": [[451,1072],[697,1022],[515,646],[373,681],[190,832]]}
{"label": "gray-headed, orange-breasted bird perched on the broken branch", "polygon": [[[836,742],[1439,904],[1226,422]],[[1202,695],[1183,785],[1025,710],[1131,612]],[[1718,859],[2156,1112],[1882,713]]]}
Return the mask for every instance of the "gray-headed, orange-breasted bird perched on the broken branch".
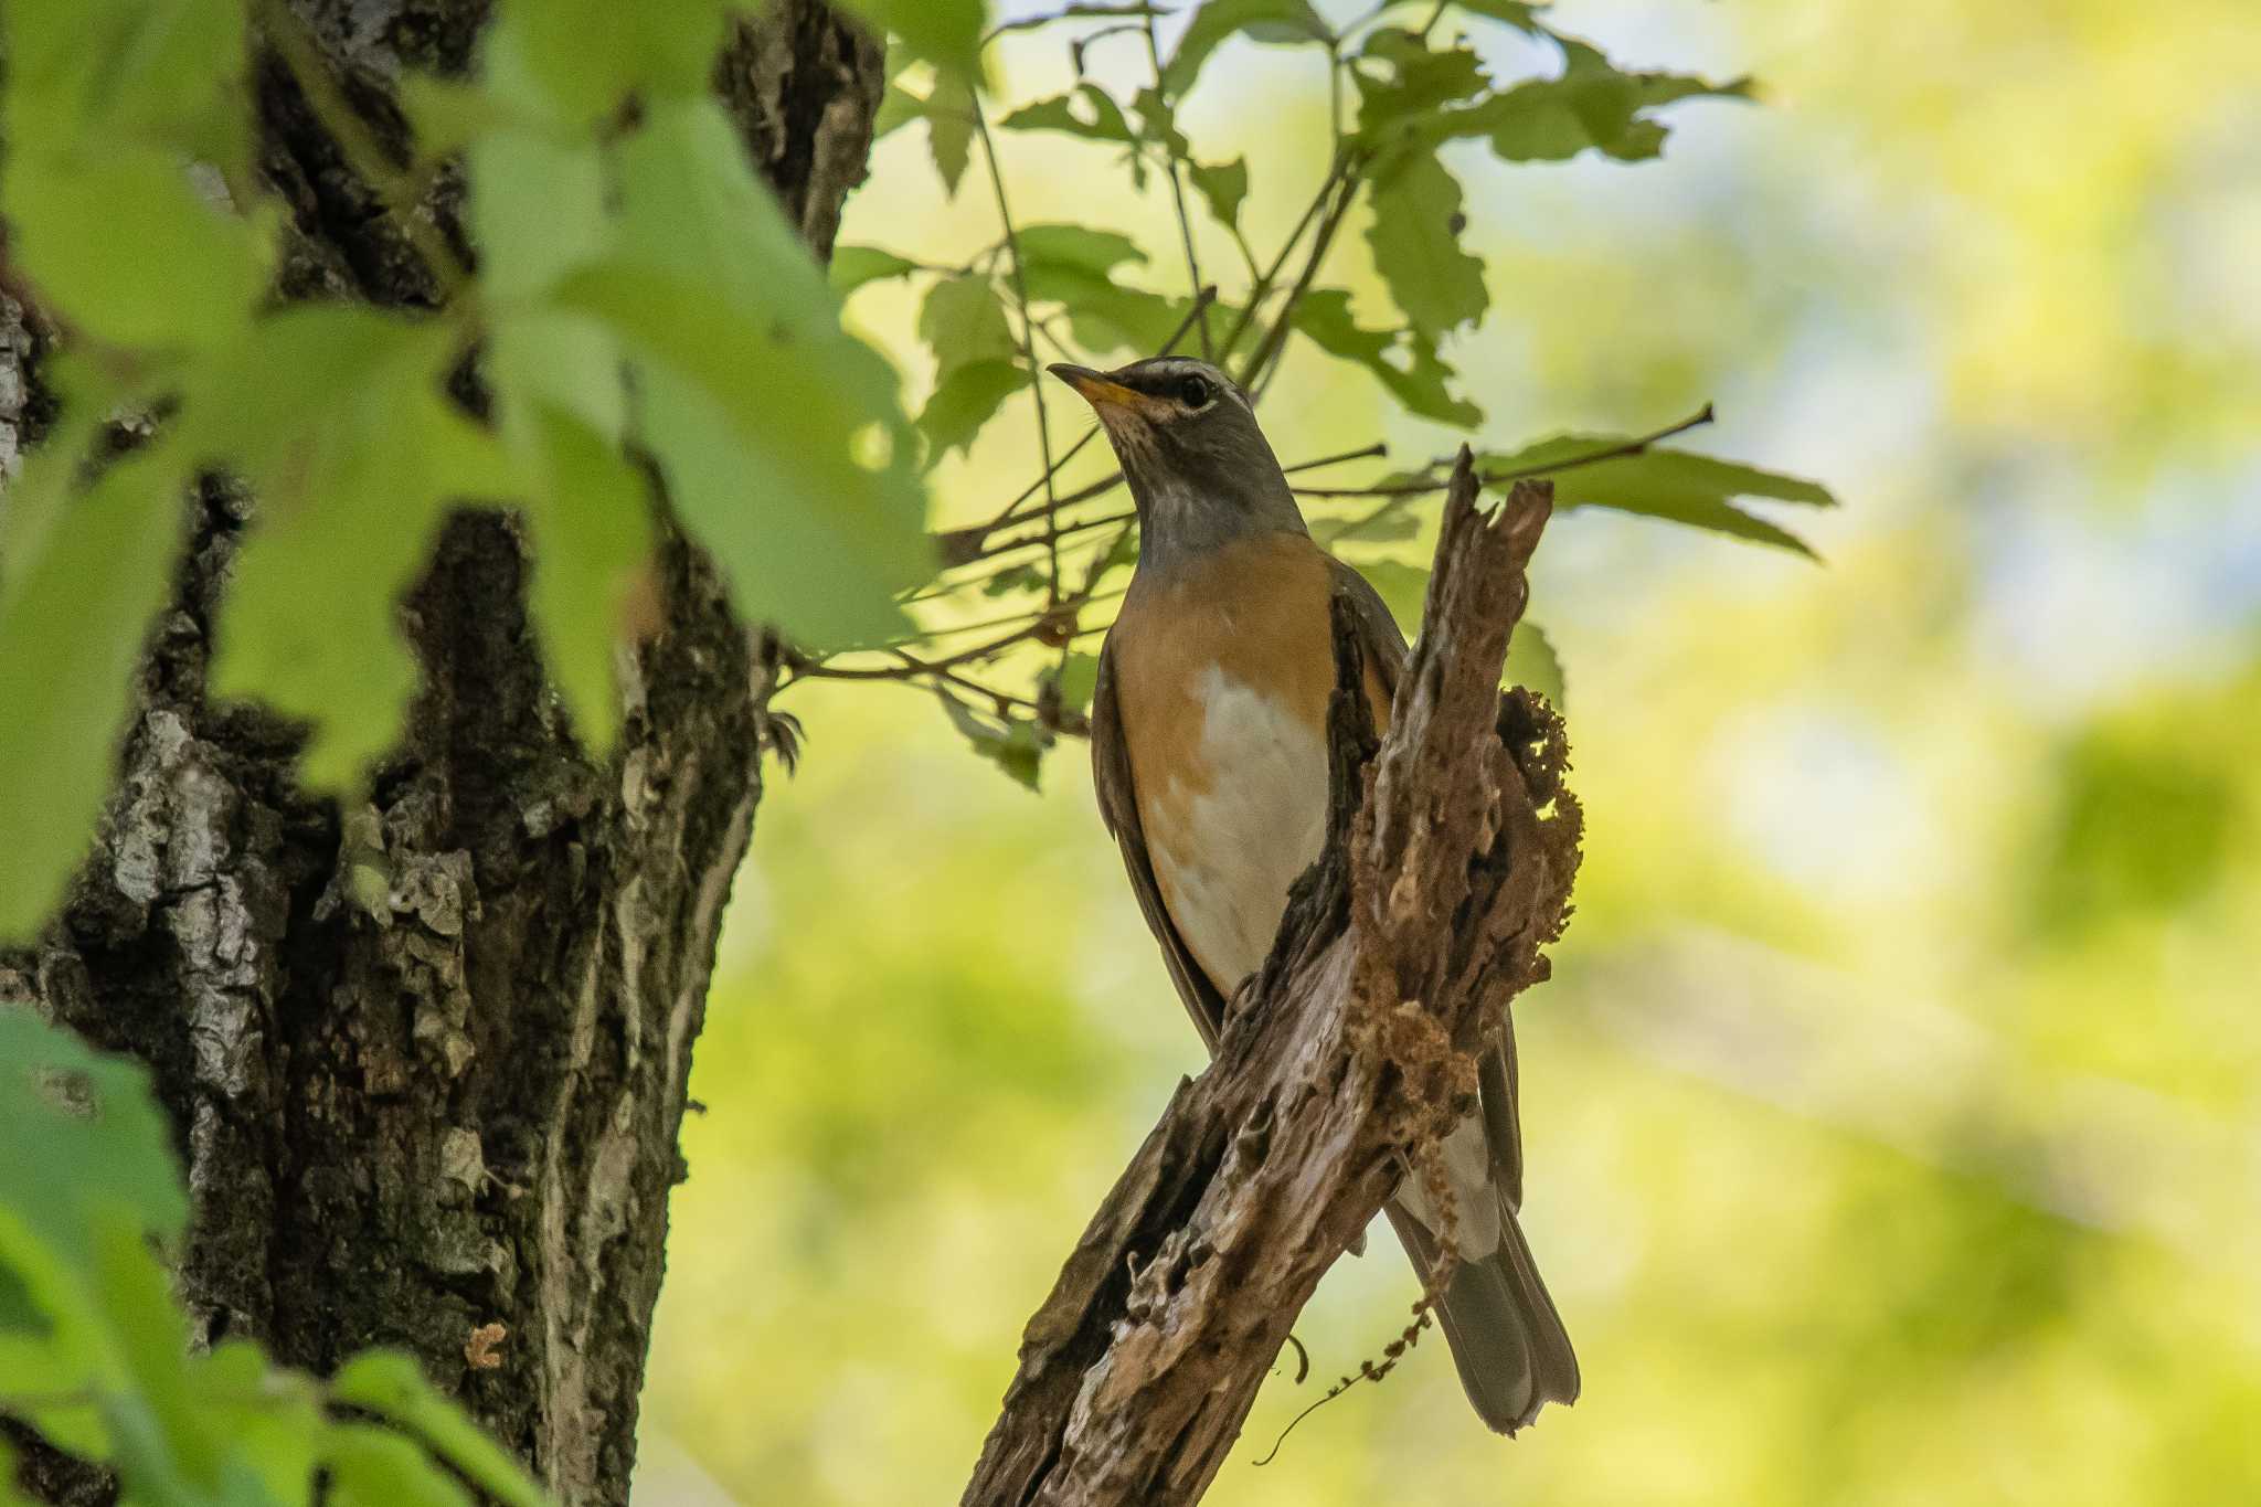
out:
{"label": "gray-headed, orange-breasted bird perched on the broken branch", "polygon": [[[1099,653],[1092,782],[1146,926],[1203,1044],[1264,965],[1327,831],[1329,601],[1366,660],[1375,732],[1406,664],[1381,594],[1314,538],[1248,393],[1210,361],[1054,364],[1106,429],[1137,511],[1130,587]],[[1578,1396],[1578,1358],[1524,1240],[1515,1037],[1443,1143],[1454,1213],[1406,1175],[1386,1211],[1415,1270],[1458,1261],[1436,1315],[1476,1414],[1513,1435]]]}

